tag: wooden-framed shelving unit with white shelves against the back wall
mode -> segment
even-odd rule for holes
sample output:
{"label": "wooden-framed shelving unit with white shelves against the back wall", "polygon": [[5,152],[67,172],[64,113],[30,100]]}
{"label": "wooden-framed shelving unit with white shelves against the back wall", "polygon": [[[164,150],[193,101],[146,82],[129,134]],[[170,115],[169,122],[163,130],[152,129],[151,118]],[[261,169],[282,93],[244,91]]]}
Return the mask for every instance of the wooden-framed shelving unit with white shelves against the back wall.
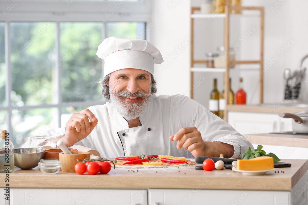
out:
{"label": "wooden-framed shelving unit with white shelves against the back wall", "polygon": [[[260,104],[263,103],[263,49],[264,49],[264,7],[247,7],[247,6],[230,6],[227,4],[225,6],[224,14],[194,14],[195,11],[199,11],[200,7],[192,7],[191,8],[191,42],[190,42],[190,97],[193,99],[193,73],[194,72],[208,72],[208,73],[224,73],[224,82],[229,81],[229,73],[232,70],[237,71],[257,71],[260,75],[259,81],[259,89],[260,89]],[[195,64],[206,64],[205,60],[195,60],[194,59],[194,19],[200,18],[224,18],[224,47],[225,51],[229,51],[230,49],[230,15],[232,10],[249,10],[249,11],[259,11],[259,13],[248,12],[244,14],[232,14],[237,16],[247,16],[247,17],[259,17],[260,18],[260,60],[245,60],[245,61],[230,61],[229,55],[225,55],[225,67],[224,68],[205,68],[205,67],[195,67]],[[230,68],[230,65],[240,65],[240,64],[258,64],[258,68],[249,68],[243,66],[235,66],[235,68]],[[224,83],[225,89],[225,102],[226,108],[224,112],[225,121],[227,121],[228,116],[228,104],[229,104],[229,83]]]}

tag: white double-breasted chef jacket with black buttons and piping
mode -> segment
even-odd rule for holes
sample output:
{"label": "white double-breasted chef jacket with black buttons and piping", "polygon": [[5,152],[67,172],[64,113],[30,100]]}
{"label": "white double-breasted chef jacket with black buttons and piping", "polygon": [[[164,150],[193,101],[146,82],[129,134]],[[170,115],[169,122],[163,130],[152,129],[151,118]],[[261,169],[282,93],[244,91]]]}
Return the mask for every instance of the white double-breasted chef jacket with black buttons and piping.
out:
{"label": "white double-breasted chef jacket with black buttons and piping", "polygon": [[[85,139],[76,143],[97,150],[101,157],[171,155],[194,158],[191,152],[176,148],[169,137],[181,128],[196,127],[204,141],[220,141],[234,147],[233,158],[253,145],[228,123],[201,104],[184,95],[153,95],[148,108],[140,116],[142,126],[129,128],[128,122],[114,109],[112,103],[88,108],[98,124]],[[60,136],[64,129],[50,130]]]}

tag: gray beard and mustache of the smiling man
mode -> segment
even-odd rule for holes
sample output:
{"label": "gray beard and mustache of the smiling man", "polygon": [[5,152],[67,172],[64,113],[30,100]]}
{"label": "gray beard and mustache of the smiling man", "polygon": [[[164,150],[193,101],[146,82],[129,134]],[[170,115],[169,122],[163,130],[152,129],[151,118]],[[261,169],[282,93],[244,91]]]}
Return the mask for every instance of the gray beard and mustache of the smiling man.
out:
{"label": "gray beard and mustache of the smiling man", "polygon": [[[152,96],[152,94],[147,94],[143,91],[138,91],[134,94],[126,90],[114,93],[111,86],[109,87],[109,94],[110,102],[113,104],[113,107],[126,121],[132,121],[140,117],[148,108]],[[142,98],[142,101],[134,103],[123,100],[123,97],[130,97],[132,95]]]}

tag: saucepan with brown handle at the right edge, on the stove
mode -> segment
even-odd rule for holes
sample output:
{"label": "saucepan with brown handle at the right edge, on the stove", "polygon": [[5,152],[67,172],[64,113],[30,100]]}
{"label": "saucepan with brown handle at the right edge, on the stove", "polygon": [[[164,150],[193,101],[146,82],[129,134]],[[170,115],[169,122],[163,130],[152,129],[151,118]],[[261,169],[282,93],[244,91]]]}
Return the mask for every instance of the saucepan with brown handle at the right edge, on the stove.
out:
{"label": "saucepan with brown handle at the right edge, on the stove", "polygon": [[308,134],[308,110],[302,112],[291,113],[281,113],[280,117],[293,118],[292,129],[296,133]]}

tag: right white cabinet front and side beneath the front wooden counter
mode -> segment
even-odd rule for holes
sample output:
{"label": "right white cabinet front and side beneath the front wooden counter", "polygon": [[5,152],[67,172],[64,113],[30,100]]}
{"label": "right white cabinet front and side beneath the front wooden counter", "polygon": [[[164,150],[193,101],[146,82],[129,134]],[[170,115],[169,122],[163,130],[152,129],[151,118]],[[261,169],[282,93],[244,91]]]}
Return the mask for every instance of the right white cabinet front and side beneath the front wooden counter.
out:
{"label": "right white cabinet front and side beneath the front wooden counter", "polygon": [[[253,186],[253,185],[252,185]],[[292,191],[149,189],[148,205],[307,205],[307,172]]]}

